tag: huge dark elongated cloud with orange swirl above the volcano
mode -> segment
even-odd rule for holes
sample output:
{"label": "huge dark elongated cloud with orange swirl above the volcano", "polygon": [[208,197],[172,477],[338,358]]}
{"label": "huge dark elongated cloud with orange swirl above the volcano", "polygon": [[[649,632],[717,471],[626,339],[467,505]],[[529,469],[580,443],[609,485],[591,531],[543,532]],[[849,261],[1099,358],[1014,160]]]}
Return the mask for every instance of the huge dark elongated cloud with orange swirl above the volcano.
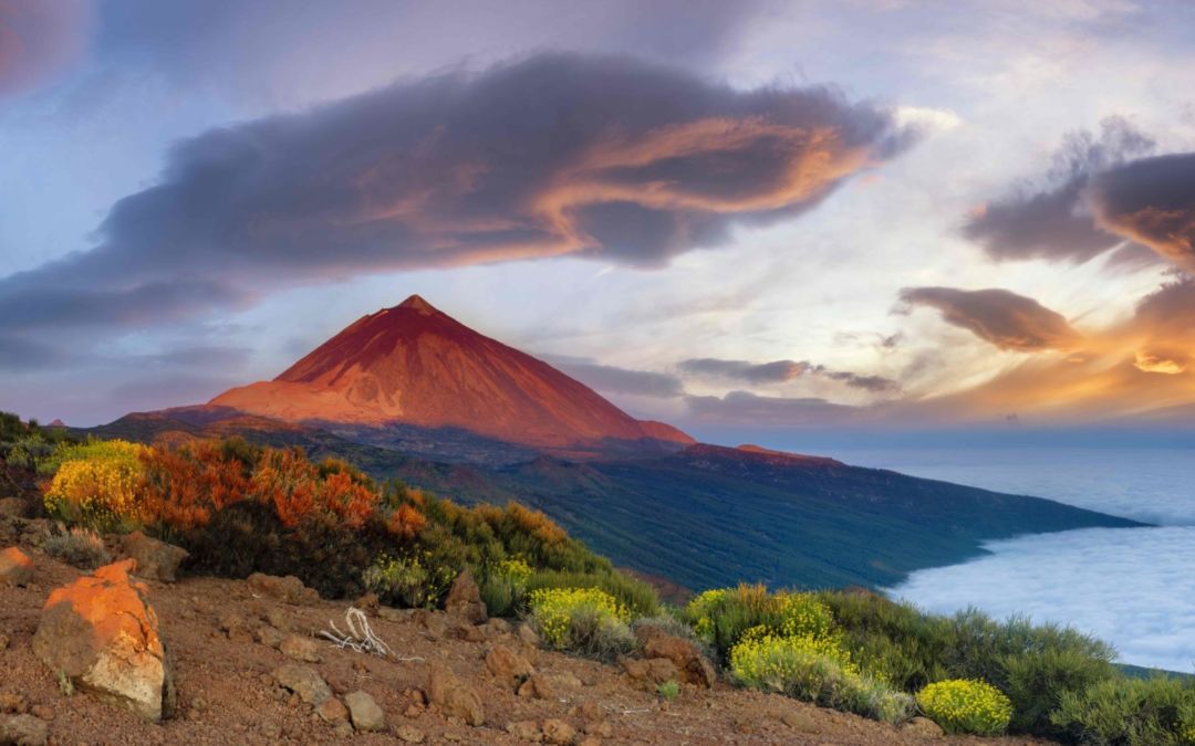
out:
{"label": "huge dark elongated cloud with orange swirl above the volcano", "polygon": [[541,54],[184,141],[99,246],[0,280],[0,316],[141,322],[250,284],[559,255],[658,266],[811,209],[914,136],[828,88]]}

